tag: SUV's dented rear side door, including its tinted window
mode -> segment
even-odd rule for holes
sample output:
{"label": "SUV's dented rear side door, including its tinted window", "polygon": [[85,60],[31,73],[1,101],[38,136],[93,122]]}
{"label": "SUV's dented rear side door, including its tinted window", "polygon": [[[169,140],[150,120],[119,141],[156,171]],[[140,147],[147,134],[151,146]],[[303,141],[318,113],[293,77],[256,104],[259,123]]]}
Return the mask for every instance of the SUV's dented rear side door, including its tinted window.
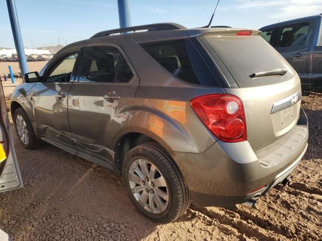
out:
{"label": "SUV's dented rear side door, including its tinted window", "polygon": [[113,168],[115,136],[129,121],[139,78],[116,45],[88,45],[68,95],[77,155]]}

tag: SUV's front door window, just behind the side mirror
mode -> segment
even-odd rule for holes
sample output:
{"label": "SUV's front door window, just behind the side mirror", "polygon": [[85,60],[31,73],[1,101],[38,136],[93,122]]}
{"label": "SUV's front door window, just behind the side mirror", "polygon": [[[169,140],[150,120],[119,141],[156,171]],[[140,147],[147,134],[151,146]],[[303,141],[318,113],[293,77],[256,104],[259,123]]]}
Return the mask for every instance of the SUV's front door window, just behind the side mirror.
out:
{"label": "SUV's front door window, just behind the side mirror", "polygon": [[46,82],[69,82],[77,53],[69,54],[48,75]]}

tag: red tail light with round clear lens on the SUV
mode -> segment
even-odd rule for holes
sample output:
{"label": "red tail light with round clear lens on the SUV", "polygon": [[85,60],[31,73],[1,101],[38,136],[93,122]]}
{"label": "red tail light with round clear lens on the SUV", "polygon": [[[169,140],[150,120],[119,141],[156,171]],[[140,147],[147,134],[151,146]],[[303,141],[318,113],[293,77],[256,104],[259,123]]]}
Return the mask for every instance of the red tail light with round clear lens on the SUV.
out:
{"label": "red tail light with round clear lens on the SUV", "polygon": [[207,94],[191,99],[190,106],[219,140],[247,140],[244,106],[238,97],[231,94]]}

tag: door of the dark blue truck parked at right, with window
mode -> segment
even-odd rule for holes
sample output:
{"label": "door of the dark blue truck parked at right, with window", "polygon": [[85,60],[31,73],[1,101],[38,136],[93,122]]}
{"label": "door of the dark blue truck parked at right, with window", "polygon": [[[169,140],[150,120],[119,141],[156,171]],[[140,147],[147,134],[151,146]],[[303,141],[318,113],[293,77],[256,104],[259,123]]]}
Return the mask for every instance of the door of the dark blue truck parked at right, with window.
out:
{"label": "door of the dark blue truck parked at right, with window", "polygon": [[280,27],[276,50],[290,63],[299,76],[307,73],[307,60],[313,37],[313,22],[305,21]]}

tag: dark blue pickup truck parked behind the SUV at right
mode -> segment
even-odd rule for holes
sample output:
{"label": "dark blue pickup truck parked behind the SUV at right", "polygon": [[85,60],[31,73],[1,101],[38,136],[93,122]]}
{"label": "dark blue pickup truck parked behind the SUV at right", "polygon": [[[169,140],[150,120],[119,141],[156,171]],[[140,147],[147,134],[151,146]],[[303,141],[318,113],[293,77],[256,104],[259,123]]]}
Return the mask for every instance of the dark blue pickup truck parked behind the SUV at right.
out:
{"label": "dark blue pickup truck parked behind the SUV at right", "polygon": [[303,89],[322,90],[322,14],[272,24],[260,31],[296,70]]}

